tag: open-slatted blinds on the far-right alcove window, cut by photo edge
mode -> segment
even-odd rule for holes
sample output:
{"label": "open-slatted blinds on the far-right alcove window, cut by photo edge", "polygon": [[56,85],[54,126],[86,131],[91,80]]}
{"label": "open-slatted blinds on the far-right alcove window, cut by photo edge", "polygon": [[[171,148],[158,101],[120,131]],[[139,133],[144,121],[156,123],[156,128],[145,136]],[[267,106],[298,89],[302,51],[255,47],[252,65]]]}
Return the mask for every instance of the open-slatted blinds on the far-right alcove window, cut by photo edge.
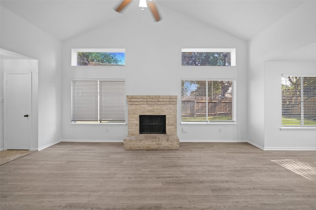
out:
{"label": "open-slatted blinds on the far-right alcove window, cut by photo edge", "polygon": [[283,76],[282,126],[316,126],[316,77]]}

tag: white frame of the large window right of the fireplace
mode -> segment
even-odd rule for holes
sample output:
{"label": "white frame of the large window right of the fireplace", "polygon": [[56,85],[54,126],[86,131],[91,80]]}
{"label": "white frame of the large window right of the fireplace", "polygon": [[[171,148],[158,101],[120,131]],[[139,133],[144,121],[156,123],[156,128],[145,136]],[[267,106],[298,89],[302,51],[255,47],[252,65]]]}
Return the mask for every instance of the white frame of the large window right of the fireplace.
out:
{"label": "white frame of the large window right of the fireplace", "polygon": [[[208,120],[208,121],[182,121],[182,82],[183,81],[232,81],[232,120]],[[237,80],[236,79],[181,79],[181,123],[180,124],[203,124],[203,125],[214,125],[214,124],[221,124],[221,125],[232,125],[237,124]],[[207,93],[205,93],[206,96]],[[208,97],[208,96],[207,96]],[[208,108],[207,108],[208,109]],[[207,112],[205,113],[206,117]]]}

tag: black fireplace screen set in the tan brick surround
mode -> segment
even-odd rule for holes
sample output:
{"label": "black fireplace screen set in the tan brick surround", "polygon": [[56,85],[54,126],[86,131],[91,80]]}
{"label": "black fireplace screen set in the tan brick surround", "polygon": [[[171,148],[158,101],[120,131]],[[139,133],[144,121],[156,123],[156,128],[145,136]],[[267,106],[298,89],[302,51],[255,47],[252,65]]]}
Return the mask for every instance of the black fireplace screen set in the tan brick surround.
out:
{"label": "black fireplace screen set in the tan brick surround", "polygon": [[139,133],[166,133],[165,115],[140,115]]}

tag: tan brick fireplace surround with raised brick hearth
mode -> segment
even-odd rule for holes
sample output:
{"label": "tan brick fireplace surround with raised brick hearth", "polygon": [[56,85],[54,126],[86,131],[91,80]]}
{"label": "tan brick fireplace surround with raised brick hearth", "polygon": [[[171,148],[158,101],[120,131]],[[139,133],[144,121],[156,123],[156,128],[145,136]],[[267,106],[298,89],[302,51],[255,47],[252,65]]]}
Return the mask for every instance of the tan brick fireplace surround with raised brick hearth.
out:
{"label": "tan brick fireplace surround with raised brick hearth", "polygon": [[[177,96],[176,95],[127,95],[128,135],[124,149],[177,149]],[[165,116],[165,134],[140,134],[142,115]]]}

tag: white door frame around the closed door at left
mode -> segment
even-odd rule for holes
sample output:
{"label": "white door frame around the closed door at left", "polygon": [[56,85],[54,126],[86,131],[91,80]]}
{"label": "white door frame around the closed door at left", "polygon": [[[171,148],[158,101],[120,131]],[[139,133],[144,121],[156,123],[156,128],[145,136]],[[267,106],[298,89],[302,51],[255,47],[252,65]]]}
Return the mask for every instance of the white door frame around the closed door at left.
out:
{"label": "white door frame around the closed door at left", "polygon": [[4,141],[3,141],[3,149],[7,150],[7,88],[6,88],[6,81],[7,81],[7,75],[8,74],[27,74],[29,75],[29,92],[30,92],[30,100],[29,100],[29,118],[30,118],[30,123],[29,123],[29,148],[28,150],[32,149],[32,131],[33,131],[33,123],[32,123],[32,72],[3,72],[3,99],[4,99],[4,104],[3,104],[3,136],[4,136]]}

